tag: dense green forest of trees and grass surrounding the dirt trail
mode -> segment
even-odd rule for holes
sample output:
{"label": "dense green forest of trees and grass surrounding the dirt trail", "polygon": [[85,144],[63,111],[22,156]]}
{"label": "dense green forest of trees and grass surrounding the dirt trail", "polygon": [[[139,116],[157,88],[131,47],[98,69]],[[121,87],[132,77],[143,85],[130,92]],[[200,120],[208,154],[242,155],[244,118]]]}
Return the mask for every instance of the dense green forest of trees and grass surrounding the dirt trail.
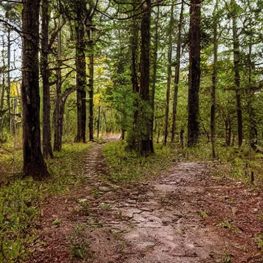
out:
{"label": "dense green forest of trees and grass surrounding the dirt trail", "polygon": [[[202,161],[261,194],[262,9],[262,0],[0,1],[0,261],[90,262],[83,243],[68,261],[29,256],[43,200],[88,185],[85,162],[86,173],[105,173],[89,152],[106,159],[104,181]],[[250,233],[260,253],[262,233]],[[224,250],[216,260],[233,259]]]}

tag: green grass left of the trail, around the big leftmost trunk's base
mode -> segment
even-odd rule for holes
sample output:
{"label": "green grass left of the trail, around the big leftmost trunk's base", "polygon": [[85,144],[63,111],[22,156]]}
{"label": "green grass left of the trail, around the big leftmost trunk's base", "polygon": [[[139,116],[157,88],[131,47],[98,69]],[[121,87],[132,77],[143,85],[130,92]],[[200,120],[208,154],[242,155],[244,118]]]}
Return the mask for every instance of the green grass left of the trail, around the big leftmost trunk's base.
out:
{"label": "green grass left of the trail, around the big leftmost trunk's base", "polygon": [[0,189],[0,262],[18,263],[27,259],[30,243],[39,238],[42,200],[67,193],[83,182],[84,156],[89,147],[90,144],[63,145],[63,151],[47,161],[51,177],[42,182],[21,179],[21,151],[13,153],[5,149],[6,154],[0,155],[0,166],[5,170]]}

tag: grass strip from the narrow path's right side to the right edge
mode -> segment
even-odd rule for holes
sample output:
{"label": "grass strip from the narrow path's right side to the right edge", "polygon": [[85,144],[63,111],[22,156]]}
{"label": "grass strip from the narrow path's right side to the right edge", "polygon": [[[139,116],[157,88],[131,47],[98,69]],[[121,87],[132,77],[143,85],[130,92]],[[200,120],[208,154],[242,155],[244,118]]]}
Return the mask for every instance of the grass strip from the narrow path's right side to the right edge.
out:
{"label": "grass strip from the narrow path's right side to the right edge", "polygon": [[[263,153],[253,152],[244,143],[239,149],[235,146],[224,147],[223,142],[216,146],[217,159],[211,156],[211,144],[206,140],[192,148],[181,149],[178,143],[155,144],[155,155],[142,158],[136,153],[125,151],[125,142],[112,142],[104,146],[107,164],[111,168],[111,179],[122,181],[143,179],[149,174],[159,174],[173,162],[198,161],[213,165],[213,175],[219,178],[233,178],[250,183],[250,174],[255,174],[255,184],[263,183]],[[215,165],[214,165],[215,164]]]}

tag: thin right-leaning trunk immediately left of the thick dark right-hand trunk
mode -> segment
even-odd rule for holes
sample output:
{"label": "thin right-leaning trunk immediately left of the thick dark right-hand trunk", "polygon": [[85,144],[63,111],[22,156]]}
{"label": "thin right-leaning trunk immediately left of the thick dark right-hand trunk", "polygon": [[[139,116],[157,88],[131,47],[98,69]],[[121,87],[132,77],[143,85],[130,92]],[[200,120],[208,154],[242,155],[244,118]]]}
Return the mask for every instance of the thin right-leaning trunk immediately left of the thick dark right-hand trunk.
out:
{"label": "thin right-leaning trunk immediately left of the thick dark right-hand trunk", "polygon": [[176,47],[176,65],[175,65],[175,85],[174,85],[174,102],[173,102],[173,124],[172,124],[172,142],[175,141],[176,132],[176,117],[177,117],[177,103],[178,103],[178,85],[180,79],[180,62],[181,62],[181,34],[183,23],[183,2],[181,4],[181,12],[178,24],[178,39]]}

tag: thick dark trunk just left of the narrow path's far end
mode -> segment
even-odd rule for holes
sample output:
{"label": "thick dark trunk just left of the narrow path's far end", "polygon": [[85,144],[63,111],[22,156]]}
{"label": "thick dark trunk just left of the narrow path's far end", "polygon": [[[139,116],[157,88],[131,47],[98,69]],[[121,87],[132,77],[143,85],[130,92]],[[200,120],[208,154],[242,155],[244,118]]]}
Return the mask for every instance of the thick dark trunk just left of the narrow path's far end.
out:
{"label": "thick dark trunk just left of the narrow path's far end", "polygon": [[[76,88],[77,88],[77,137],[76,142],[86,142],[86,56],[85,28],[78,18],[76,26]],[[90,72],[89,72],[90,73]]]}

